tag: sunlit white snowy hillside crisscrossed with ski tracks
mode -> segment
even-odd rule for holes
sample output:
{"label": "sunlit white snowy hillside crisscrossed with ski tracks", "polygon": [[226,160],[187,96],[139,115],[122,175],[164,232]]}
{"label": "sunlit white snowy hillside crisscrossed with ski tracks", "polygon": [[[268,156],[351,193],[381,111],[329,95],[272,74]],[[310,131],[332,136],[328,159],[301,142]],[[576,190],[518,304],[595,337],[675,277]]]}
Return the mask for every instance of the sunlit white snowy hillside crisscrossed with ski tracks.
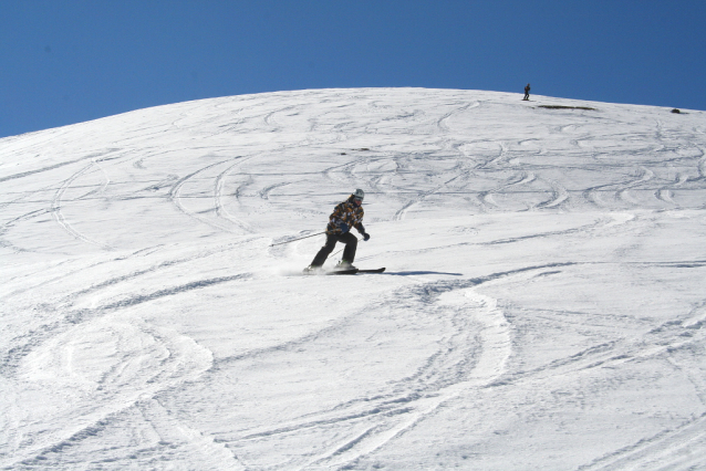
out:
{"label": "sunlit white snowy hillside crisscrossed with ski tracks", "polygon": [[[270,93],[0,139],[0,469],[703,467],[706,113],[520,98]],[[385,273],[270,247],[355,188],[355,264]]]}

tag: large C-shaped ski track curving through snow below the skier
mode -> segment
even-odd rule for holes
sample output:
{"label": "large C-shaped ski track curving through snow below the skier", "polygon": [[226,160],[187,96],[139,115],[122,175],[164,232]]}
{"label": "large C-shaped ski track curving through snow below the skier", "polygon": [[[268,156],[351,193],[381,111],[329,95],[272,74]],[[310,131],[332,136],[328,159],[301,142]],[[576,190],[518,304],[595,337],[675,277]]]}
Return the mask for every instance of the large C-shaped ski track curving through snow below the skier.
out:
{"label": "large C-shaped ski track curving through snow below the skier", "polygon": [[[450,337],[439,345],[438,352],[413,376],[391,385],[388,391],[380,391],[373,399],[342,404],[316,416],[307,416],[300,422],[279,423],[276,429],[250,431],[245,437],[228,440],[228,447],[235,449],[242,441],[262,438],[271,440],[276,436],[295,435],[298,431],[316,427],[365,423],[364,431],[359,436],[334,442],[323,456],[310,457],[303,464],[304,468],[338,468],[394,440],[407,429],[415,427],[425,416],[434,414],[444,402],[457,397],[459,393],[489,384],[503,373],[511,346],[509,325],[502,312],[497,308],[495,300],[482,296],[469,287],[482,282],[470,280],[413,286],[412,292],[403,290],[396,293],[393,300],[383,304],[383,308],[391,310],[401,304],[405,308],[414,308],[414,304],[421,304],[425,306],[425,311],[436,311],[437,316],[447,317],[454,326]],[[467,303],[473,307],[468,308]],[[429,307],[429,304],[435,307]],[[341,328],[341,325],[336,327]],[[334,334],[335,332],[325,333],[326,336]],[[297,345],[301,347],[323,335],[324,333],[318,333],[316,337],[301,339]],[[478,336],[480,353],[470,355],[468,346],[473,345],[474,337]],[[293,346],[288,345],[285,348]],[[282,347],[284,346],[279,345],[277,349]],[[260,352],[258,356],[263,354],[264,352]]]}

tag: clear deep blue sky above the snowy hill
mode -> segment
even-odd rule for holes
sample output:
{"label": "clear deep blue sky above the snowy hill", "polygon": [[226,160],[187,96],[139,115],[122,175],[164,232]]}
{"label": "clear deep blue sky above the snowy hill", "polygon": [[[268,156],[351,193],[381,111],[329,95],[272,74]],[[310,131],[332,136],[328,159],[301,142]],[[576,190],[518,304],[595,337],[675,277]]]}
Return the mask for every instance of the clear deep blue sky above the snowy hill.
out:
{"label": "clear deep blue sky above the snowy hill", "polygon": [[705,0],[0,0],[0,137],[324,87],[706,109],[705,23]]}

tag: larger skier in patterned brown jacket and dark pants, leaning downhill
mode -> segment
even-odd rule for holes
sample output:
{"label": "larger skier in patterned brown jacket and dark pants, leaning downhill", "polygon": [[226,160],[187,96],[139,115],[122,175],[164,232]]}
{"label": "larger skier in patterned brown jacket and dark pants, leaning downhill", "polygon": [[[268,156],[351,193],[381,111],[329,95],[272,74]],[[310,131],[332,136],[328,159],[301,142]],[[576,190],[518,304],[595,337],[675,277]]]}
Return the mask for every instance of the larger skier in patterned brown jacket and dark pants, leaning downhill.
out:
{"label": "larger skier in patterned brown jacket and dark pants, leaning downhill", "polygon": [[355,249],[357,248],[357,238],[350,231],[351,228],[355,228],[362,236],[363,240],[367,241],[371,237],[365,232],[363,227],[363,198],[365,193],[360,188],[353,192],[345,201],[336,205],[333,212],[329,217],[329,224],[326,226],[326,243],[319,250],[316,257],[311,262],[311,265],[304,269],[304,272],[314,272],[321,270],[321,266],[326,261],[326,258],[333,252],[336,242],[345,243],[343,250],[343,257],[336,265],[335,270],[351,270],[353,266],[353,260],[355,260]]}

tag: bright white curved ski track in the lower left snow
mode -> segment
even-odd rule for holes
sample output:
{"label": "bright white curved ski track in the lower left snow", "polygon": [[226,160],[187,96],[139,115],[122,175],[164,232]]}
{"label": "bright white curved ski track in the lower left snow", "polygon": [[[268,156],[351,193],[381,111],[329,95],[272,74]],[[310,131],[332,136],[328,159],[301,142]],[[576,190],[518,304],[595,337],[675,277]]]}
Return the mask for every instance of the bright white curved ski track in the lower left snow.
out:
{"label": "bright white curved ski track in the lower left snow", "polygon": [[[61,453],[63,448],[96,435],[115,415],[134,407],[142,397],[152,397],[160,390],[174,388],[181,381],[198,377],[210,367],[210,353],[189,338],[166,331],[146,327],[136,329],[133,325],[106,318],[92,324],[97,325],[81,326],[66,335],[60,335],[33,349],[25,359],[28,367],[23,368],[22,375],[33,381],[61,378],[69,388],[81,388],[85,381],[91,383],[90,388],[96,393],[91,398],[91,404],[74,405],[70,401],[52,411],[53,414],[44,415],[42,420],[49,423],[61,423],[56,418],[71,417],[72,412],[81,412],[81,419],[70,420],[69,427],[62,426],[59,430],[52,430],[51,426],[41,430],[42,440],[23,447],[22,453],[12,457],[12,465],[21,468],[41,464],[46,459],[45,456]],[[97,342],[94,343],[95,339]],[[101,341],[107,341],[108,345],[101,344]],[[115,352],[106,356],[105,348],[111,346]],[[83,364],[76,362],[76,349],[90,349],[94,357],[82,358]],[[92,368],[93,364],[100,365],[104,360],[108,362],[110,367],[94,378],[100,369]],[[145,370],[146,368],[149,369]]]}

